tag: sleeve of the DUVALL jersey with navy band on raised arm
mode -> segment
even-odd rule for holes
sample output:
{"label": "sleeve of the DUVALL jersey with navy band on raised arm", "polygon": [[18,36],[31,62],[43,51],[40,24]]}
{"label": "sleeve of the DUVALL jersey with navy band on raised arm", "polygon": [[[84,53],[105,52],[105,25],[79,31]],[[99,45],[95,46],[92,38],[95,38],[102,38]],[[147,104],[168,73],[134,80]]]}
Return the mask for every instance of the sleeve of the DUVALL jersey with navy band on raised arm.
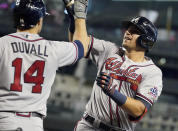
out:
{"label": "sleeve of the DUVALL jersey with navy band on raised arm", "polygon": [[58,67],[76,63],[84,56],[84,48],[80,41],[58,42],[53,41],[52,47],[58,61]]}

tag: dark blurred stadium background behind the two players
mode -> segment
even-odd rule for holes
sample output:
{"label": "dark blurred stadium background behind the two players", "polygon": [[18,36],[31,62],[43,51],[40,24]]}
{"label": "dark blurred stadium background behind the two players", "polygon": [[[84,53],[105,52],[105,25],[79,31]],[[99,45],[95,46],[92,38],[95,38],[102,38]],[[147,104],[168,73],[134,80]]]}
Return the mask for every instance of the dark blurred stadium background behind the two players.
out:
{"label": "dark blurred stadium background behind the two players", "polygon": [[[45,0],[51,16],[40,34],[67,41],[68,20],[62,0]],[[0,37],[15,32],[14,0],[0,0]],[[178,131],[178,0],[90,0],[88,33],[121,45],[121,20],[146,16],[159,28],[158,42],[148,54],[163,71],[162,95],[138,124],[136,131]],[[82,59],[57,71],[48,101],[45,131],[72,131],[90,98],[96,67]]]}

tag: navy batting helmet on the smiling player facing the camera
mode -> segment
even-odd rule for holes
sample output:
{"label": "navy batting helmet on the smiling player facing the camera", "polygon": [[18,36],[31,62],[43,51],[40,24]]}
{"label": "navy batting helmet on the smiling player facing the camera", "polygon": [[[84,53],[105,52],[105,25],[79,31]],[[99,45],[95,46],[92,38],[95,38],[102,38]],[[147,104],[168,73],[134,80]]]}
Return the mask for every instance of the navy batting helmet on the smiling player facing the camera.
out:
{"label": "navy batting helmet on the smiling player facing the camera", "polygon": [[126,29],[128,29],[130,25],[135,25],[141,32],[141,35],[137,39],[137,43],[149,51],[157,40],[157,28],[150,20],[142,16],[135,17],[131,21],[122,22],[122,26]]}

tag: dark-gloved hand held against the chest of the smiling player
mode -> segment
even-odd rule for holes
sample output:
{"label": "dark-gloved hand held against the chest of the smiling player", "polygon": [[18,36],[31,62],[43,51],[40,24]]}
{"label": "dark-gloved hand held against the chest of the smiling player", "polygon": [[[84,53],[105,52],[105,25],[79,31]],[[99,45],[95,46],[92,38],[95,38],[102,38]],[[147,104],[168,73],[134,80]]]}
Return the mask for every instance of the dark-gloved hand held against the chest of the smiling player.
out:
{"label": "dark-gloved hand held against the chest of the smiling player", "polygon": [[97,85],[102,88],[102,90],[110,95],[114,92],[115,86],[112,87],[113,78],[111,78],[107,73],[101,72],[96,78]]}

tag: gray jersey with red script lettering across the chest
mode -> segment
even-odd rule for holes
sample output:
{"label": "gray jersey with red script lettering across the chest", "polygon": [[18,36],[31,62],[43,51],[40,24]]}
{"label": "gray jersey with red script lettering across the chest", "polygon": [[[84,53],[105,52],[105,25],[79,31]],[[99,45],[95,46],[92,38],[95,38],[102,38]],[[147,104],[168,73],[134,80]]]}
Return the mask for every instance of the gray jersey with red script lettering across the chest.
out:
{"label": "gray jersey with red script lettering across the chest", "polygon": [[[157,101],[162,90],[162,72],[150,58],[145,57],[146,62],[133,62],[126,55],[120,56],[115,44],[96,38],[93,38],[90,51],[89,58],[96,64],[97,74],[101,71],[110,74],[113,85],[117,85],[116,90],[142,101],[148,108]],[[96,81],[85,113],[129,131],[134,130],[136,121],[141,118],[129,116],[102,91]]]}

